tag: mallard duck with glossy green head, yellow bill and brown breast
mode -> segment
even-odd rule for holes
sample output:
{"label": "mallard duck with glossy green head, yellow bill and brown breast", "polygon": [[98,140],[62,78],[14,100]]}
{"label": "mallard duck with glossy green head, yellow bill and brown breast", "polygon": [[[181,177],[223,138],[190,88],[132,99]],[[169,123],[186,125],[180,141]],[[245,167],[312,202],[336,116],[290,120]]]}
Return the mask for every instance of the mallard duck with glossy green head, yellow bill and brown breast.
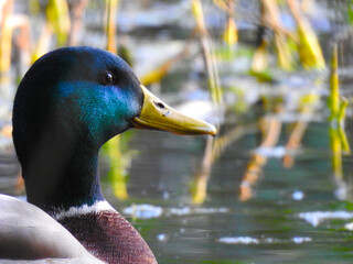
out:
{"label": "mallard duck with glossy green head, yellow bill and brown breast", "polygon": [[[93,47],[64,47],[39,58],[20,82],[12,124],[28,202],[61,223],[92,255],[119,264],[157,261],[140,234],[101,195],[100,146],[130,128],[216,134],[215,127],[179,113],[153,96],[120,57]],[[12,221],[2,216],[1,211],[0,230]],[[19,217],[25,226],[25,215]],[[42,219],[47,230],[43,232],[55,239],[47,229],[51,222]],[[13,241],[20,237],[31,243],[35,233],[11,235]],[[29,252],[29,258],[67,257],[60,251],[41,252],[40,239],[35,238],[40,253]],[[9,256],[0,250],[1,257]]]}

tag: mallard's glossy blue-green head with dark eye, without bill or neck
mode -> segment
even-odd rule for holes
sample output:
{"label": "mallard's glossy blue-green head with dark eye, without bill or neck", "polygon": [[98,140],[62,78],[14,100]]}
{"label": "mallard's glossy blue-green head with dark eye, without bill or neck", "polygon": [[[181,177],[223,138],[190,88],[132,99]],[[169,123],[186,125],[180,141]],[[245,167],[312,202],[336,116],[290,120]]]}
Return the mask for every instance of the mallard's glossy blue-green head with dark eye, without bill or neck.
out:
{"label": "mallard's glossy blue-green head with dark eye, without bill or neck", "polygon": [[14,100],[13,140],[22,166],[22,154],[47,136],[99,147],[130,127],[142,101],[133,72],[111,53],[66,47],[44,55],[25,74]]}

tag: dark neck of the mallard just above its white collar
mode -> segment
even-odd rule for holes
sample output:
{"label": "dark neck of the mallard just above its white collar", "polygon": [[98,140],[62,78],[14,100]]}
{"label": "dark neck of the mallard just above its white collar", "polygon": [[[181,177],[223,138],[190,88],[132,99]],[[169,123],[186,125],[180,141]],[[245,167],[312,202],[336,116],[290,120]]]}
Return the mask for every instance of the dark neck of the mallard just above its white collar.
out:
{"label": "dark neck of the mallard just above its white collar", "polygon": [[104,200],[98,151],[99,147],[82,139],[44,139],[28,163],[30,166],[22,166],[28,201],[55,215]]}

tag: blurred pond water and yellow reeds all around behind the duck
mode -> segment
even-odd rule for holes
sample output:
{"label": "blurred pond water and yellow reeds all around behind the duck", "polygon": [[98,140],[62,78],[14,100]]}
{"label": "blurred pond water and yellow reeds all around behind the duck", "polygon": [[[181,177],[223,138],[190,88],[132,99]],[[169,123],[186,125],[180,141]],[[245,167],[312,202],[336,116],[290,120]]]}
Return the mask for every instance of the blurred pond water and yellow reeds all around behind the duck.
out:
{"label": "blurred pond water and yellow reeds all around behind the duck", "polygon": [[17,86],[61,46],[124,57],[217,138],[106,143],[108,201],[161,264],[353,262],[351,0],[0,0],[0,193],[24,197]]}

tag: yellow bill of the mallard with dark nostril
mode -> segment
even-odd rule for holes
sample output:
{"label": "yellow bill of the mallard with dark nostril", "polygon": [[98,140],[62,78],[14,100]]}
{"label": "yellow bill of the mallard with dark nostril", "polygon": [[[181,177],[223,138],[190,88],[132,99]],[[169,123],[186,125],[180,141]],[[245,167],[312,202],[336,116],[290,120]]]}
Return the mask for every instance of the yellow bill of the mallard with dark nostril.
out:
{"label": "yellow bill of the mallard with dark nostril", "polygon": [[145,99],[140,116],[132,119],[136,129],[162,130],[184,135],[216,135],[217,130],[214,125],[188,117],[162,102],[146,87],[141,86],[141,89]]}

